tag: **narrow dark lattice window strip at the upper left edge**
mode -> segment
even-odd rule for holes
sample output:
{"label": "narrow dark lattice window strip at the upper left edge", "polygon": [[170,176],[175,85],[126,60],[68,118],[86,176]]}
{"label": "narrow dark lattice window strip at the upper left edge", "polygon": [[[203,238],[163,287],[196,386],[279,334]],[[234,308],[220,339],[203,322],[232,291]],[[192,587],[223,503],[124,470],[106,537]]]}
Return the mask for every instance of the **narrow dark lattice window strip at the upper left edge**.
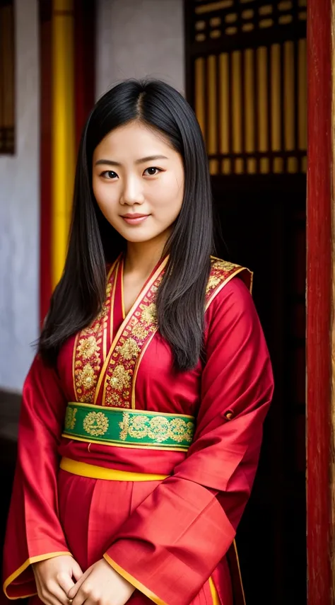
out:
{"label": "narrow dark lattice window strip at the upper left edge", "polygon": [[14,6],[0,0],[0,154],[14,153]]}

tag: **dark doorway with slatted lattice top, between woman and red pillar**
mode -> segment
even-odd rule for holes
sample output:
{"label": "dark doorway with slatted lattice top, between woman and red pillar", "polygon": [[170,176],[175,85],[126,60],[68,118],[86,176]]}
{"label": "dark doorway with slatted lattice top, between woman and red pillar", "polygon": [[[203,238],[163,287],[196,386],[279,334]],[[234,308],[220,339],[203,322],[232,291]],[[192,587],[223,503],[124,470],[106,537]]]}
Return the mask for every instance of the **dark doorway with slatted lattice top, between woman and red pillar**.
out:
{"label": "dark doorway with slatted lattice top, between woman and red pillar", "polygon": [[306,603],[306,0],[186,0],[187,99],[224,239],[254,271],[276,390],[237,532],[247,605]]}

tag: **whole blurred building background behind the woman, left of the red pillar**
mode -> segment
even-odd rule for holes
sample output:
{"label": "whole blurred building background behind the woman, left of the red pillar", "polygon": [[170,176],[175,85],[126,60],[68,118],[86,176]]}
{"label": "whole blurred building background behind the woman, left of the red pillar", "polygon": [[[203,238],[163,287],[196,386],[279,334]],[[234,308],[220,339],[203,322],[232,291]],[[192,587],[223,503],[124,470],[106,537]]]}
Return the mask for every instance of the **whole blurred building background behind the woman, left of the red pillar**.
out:
{"label": "whole blurred building background behind the woman, left of the red pillar", "polygon": [[225,242],[217,255],[254,271],[274,364],[237,534],[246,601],[304,604],[306,0],[0,0],[0,541],[81,128],[114,82],[146,75],[196,112]]}

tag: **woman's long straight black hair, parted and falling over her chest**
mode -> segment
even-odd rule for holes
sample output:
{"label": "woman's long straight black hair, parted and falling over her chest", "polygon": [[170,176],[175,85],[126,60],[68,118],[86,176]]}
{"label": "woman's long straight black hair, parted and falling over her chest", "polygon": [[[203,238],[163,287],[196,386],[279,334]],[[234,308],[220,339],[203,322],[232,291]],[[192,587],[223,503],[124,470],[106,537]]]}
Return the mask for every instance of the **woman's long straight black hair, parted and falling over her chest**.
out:
{"label": "woman's long straight black hair, parted and falling over her chest", "polygon": [[163,253],[170,258],[158,289],[158,327],[172,347],[175,369],[191,369],[201,357],[213,247],[204,140],[192,108],[175,88],[158,80],[127,80],[98,100],[83,129],[69,250],[39,341],[39,352],[46,362],[54,364],[61,345],[100,312],[105,301],[106,263],[127,246],[100,212],[93,195],[92,162],[100,141],[132,120],[162,132],[183,159],[184,200]]}

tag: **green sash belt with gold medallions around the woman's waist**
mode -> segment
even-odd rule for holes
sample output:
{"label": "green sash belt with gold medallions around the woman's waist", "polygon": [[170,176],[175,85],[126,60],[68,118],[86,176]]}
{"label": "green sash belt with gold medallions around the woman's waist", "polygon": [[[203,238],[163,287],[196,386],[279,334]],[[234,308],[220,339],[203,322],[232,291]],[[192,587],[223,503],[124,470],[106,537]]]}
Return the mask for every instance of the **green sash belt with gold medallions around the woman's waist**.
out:
{"label": "green sash belt with gold medallions around the woman's waist", "polygon": [[68,403],[63,437],[126,447],[186,451],[194,435],[194,417],[105,405]]}

